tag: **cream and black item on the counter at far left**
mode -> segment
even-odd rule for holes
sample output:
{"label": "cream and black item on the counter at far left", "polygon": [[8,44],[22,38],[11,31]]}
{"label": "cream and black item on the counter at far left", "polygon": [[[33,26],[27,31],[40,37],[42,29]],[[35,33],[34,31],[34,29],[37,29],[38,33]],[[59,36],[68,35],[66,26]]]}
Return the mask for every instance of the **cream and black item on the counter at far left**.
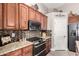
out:
{"label": "cream and black item on the counter at far left", "polygon": [[7,35],[0,36],[0,46],[4,46],[9,43],[11,43],[10,35],[7,34]]}

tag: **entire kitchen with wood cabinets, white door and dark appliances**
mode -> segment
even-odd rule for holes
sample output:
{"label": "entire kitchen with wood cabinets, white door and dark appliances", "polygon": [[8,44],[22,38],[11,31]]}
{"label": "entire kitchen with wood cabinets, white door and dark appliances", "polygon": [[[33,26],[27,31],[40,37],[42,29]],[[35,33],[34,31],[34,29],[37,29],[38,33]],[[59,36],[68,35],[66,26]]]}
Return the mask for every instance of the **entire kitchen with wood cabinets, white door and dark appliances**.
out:
{"label": "entire kitchen with wood cabinets, white door and dark appliances", "polygon": [[63,11],[69,5],[0,3],[0,56],[79,55],[79,15]]}

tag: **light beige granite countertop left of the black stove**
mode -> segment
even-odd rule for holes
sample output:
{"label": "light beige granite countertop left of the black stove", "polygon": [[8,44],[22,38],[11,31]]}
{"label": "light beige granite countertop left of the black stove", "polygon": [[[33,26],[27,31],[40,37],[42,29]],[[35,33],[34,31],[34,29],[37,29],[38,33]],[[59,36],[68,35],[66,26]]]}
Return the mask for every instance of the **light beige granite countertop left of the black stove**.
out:
{"label": "light beige granite countertop left of the black stove", "polygon": [[7,44],[5,46],[0,47],[0,55],[15,51],[17,49],[32,45],[32,42],[29,41],[21,41]]}

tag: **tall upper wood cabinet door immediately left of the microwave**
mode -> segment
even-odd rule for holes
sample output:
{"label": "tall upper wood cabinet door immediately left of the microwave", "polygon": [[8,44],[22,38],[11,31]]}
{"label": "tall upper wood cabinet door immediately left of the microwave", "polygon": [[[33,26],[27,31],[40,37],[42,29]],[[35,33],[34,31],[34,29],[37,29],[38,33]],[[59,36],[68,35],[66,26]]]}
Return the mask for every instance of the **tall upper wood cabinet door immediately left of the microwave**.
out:
{"label": "tall upper wood cabinet door immediately left of the microwave", "polygon": [[20,13],[20,29],[28,29],[28,7],[24,4],[19,4]]}

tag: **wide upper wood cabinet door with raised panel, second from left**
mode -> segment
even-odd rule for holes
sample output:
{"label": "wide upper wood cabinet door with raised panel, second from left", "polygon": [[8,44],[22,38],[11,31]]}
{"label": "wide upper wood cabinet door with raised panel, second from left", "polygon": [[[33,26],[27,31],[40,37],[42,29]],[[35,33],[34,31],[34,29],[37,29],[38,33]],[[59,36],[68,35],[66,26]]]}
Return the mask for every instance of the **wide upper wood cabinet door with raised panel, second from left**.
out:
{"label": "wide upper wood cabinet door with raised panel, second from left", "polygon": [[18,29],[18,5],[4,4],[4,29]]}

